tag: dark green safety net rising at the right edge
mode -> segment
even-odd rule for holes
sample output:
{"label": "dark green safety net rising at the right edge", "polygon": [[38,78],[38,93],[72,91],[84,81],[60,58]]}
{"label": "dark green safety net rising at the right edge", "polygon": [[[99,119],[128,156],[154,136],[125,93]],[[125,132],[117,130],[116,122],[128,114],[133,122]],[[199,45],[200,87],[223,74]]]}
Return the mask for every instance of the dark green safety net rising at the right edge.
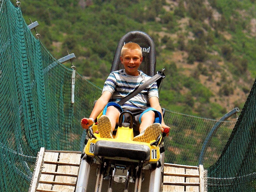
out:
{"label": "dark green safety net rising at the right edge", "polygon": [[256,191],[256,81],[218,161],[207,170],[208,191]]}

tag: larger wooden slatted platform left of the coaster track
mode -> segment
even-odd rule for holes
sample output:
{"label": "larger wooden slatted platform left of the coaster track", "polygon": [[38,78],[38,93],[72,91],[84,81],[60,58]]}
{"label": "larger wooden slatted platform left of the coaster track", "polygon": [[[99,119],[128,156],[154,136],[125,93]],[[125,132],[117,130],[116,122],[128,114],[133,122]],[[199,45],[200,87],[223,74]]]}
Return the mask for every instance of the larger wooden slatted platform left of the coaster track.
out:
{"label": "larger wooden slatted platform left of the coaster track", "polygon": [[74,192],[81,151],[41,148],[29,192]]}

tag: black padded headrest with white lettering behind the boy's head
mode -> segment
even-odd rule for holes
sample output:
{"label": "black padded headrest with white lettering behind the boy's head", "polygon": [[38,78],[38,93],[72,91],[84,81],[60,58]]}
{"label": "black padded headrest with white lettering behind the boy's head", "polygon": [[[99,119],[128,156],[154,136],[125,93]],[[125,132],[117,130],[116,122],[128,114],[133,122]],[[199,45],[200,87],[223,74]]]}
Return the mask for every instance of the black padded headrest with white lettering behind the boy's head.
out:
{"label": "black padded headrest with white lettering behind the boy's head", "polygon": [[124,44],[129,42],[137,43],[142,48],[143,60],[139,70],[148,76],[154,76],[156,74],[156,47],[153,39],[142,31],[131,31],[120,39],[112,62],[111,72],[124,68],[120,61],[121,50]]}

